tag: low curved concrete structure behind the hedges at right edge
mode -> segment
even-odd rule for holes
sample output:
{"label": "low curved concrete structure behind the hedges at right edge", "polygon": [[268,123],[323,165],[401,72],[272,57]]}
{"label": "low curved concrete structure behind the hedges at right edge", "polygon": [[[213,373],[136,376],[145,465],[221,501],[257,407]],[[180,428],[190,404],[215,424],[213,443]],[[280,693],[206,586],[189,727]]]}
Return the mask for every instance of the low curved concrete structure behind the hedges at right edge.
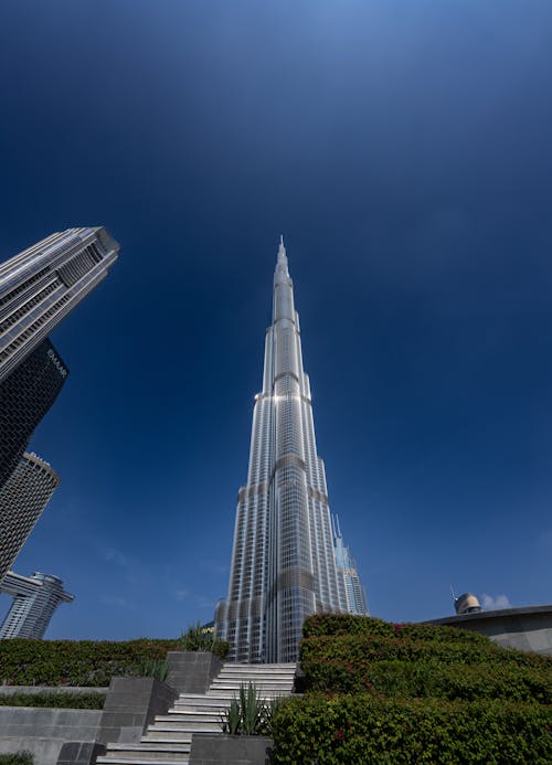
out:
{"label": "low curved concrete structure behind the hedges at right edge", "polygon": [[552,606],[502,608],[482,614],[447,616],[427,624],[447,624],[480,633],[503,648],[552,655]]}

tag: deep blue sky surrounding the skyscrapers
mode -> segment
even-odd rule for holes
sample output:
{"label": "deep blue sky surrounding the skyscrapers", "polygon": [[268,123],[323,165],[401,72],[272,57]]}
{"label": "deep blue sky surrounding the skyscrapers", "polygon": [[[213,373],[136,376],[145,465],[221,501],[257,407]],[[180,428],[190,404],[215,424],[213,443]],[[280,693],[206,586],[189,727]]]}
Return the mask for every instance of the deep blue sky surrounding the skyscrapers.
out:
{"label": "deep blue sky surrounding the skyscrapers", "polygon": [[552,601],[549,0],[4,0],[0,75],[0,258],[121,244],[32,443],[62,485],[15,570],[77,596],[49,637],[225,594],[280,232],[372,613]]}

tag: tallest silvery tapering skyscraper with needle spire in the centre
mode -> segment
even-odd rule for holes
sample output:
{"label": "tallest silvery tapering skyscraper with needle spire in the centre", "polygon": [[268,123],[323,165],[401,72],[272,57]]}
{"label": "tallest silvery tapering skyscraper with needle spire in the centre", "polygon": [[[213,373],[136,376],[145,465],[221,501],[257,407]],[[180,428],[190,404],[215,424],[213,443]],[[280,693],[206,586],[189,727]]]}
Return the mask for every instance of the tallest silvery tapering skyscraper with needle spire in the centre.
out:
{"label": "tallest silvery tapering skyscraper with needle spire in the centre", "polygon": [[230,642],[230,660],[295,661],[307,616],[347,610],[280,240],[263,390],[255,396],[247,484],[238,492],[229,593],[216,609],[216,634]]}

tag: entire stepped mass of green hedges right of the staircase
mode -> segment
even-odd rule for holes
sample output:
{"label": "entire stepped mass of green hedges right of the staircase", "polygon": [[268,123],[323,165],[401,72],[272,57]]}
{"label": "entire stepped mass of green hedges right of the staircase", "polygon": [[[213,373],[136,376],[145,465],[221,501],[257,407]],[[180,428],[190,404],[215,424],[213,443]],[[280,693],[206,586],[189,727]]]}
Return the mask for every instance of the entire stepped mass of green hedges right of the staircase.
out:
{"label": "entire stepped mass of green hedges right of the staircase", "polygon": [[307,694],[275,712],[276,764],[552,762],[552,657],[351,615],[304,636]]}

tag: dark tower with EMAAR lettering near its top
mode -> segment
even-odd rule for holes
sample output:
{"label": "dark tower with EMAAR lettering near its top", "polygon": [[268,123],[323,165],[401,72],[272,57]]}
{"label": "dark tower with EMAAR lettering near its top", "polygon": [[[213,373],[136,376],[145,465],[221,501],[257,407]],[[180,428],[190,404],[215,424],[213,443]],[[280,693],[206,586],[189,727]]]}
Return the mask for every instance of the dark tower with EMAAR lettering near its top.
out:
{"label": "dark tower with EMAAR lettering near its top", "polygon": [[46,338],[0,382],[0,489],[54,403],[68,370]]}

